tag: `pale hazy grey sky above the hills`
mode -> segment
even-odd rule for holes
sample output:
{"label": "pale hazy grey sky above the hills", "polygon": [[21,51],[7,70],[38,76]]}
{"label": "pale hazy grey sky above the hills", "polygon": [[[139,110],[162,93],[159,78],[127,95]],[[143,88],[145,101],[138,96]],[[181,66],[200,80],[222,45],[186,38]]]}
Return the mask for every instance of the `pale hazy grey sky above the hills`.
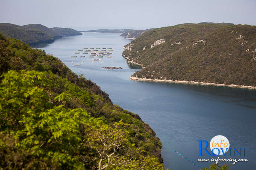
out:
{"label": "pale hazy grey sky above the hills", "polygon": [[256,25],[256,0],[0,0],[0,23],[77,30],[182,23]]}

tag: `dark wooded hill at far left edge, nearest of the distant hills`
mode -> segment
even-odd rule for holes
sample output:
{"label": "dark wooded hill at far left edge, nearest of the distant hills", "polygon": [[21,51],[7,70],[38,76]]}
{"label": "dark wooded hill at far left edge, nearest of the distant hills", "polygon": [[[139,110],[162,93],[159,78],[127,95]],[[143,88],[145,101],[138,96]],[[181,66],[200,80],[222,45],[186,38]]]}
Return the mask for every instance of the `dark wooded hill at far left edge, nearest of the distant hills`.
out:
{"label": "dark wooded hill at far left edge, nearest of the distant hills", "polygon": [[0,33],[6,37],[17,38],[25,43],[53,42],[53,36],[36,29],[24,29],[15,24],[0,24]]}

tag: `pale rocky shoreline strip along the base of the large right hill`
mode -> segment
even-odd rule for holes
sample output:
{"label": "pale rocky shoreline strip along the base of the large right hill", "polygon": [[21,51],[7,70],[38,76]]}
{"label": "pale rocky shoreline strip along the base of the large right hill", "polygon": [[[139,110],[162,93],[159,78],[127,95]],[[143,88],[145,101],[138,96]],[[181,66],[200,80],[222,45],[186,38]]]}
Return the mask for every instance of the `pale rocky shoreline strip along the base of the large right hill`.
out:
{"label": "pale rocky shoreline strip along the base of the large right hill", "polygon": [[228,86],[228,87],[240,87],[246,89],[256,89],[255,86],[243,86],[243,85],[235,85],[235,84],[218,84],[218,83],[204,83],[197,81],[181,81],[181,80],[159,80],[159,79],[150,79],[150,78],[139,78],[139,77],[130,77],[131,80],[134,81],[160,81],[160,82],[172,82],[172,83],[190,83],[190,84],[202,84],[202,85],[211,85],[211,86]]}

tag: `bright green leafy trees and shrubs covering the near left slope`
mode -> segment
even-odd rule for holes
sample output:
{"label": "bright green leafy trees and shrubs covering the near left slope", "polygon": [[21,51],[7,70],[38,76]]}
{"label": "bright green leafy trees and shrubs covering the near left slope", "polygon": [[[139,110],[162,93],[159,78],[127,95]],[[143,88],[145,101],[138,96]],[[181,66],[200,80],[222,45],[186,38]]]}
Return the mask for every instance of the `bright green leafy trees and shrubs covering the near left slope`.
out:
{"label": "bright green leafy trees and shrubs covering the near left slope", "polygon": [[137,114],[56,57],[0,34],[0,169],[163,169]]}

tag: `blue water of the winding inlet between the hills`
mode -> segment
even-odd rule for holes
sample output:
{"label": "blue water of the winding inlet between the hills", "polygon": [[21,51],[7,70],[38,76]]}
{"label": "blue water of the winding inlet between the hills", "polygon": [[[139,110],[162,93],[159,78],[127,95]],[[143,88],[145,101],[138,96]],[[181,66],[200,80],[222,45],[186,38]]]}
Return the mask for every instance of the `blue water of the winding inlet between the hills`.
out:
{"label": "blue water of the winding inlet between the hills", "polygon": [[[129,42],[131,40],[116,33],[83,33],[82,36],[64,36],[37,48],[58,57],[76,74],[94,81],[109,94],[114,104],[139,114],[163,144],[165,168],[198,170],[208,167],[211,162],[197,162],[197,159],[218,156],[207,156],[204,151],[204,156],[198,156],[198,140],[210,142],[215,135],[224,135],[229,139],[232,152],[233,148],[245,148],[243,159],[249,160],[237,162],[230,169],[255,169],[256,90],[130,80],[129,77],[139,69],[130,68],[122,57],[123,46]],[[83,48],[113,48],[114,52],[112,58],[104,57],[103,62],[91,63],[88,54],[75,54]],[[72,55],[78,57],[71,58]],[[81,66],[74,66],[76,63]],[[123,69],[107,70],[102,69],[103,66],[121,66]],[[219,156],[221,159],[235,157],[242,158]]]}

